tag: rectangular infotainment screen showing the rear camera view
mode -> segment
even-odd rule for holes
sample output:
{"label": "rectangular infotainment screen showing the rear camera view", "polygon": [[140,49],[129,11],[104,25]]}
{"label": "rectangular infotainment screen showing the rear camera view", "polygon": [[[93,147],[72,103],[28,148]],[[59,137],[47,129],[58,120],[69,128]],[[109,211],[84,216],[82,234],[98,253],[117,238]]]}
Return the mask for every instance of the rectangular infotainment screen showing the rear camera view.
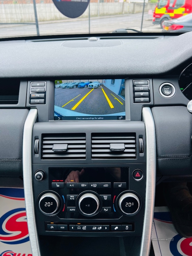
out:
{"label": "rectangular infotainment screen showing the rear camera view", "polygon": [[124,79],[55,80],[54,120],[124,120]]}

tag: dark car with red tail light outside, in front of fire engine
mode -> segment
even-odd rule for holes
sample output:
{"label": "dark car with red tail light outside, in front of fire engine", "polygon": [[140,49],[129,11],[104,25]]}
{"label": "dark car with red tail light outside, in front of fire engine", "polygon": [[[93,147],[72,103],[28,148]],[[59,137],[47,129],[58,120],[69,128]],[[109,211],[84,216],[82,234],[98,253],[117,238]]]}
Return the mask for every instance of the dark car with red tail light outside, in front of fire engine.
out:
{"label": "dark car with red tail light outside, in front of fire engine", "polygon": [[188,32],[192,31],[192,13],[174,20],[163,22],[163,31],[167,32]]}

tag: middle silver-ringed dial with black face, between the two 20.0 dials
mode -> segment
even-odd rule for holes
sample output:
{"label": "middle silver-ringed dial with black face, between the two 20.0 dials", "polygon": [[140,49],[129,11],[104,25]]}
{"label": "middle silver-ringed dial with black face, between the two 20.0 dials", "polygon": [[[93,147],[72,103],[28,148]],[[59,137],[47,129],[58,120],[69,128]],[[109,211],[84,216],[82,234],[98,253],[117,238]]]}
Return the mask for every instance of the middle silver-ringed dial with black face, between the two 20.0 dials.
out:
{"label": "middle silver-ringed dial with black face, between the two 20.0 dials", "polygon": [[78,208],[83,215],[93,216],[100,208],[99,195],[93,193],[86,193],[80,196],[78,200]]}

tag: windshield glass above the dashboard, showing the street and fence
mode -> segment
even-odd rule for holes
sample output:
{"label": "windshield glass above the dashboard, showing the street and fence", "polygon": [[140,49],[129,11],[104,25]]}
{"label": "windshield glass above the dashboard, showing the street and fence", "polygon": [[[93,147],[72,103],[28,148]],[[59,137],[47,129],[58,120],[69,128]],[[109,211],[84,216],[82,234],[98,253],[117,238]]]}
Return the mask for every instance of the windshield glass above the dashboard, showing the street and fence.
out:
{"label": "windshield glass above the dashboard, showing the street and fence", "polygon": [[[0,38],[165,32],[162,29],[164,20],[178,19],[187,15],[186,12],[192,12],[187,8],[179,9],[181,4],[185,6],[185,0],[176,1],[176,7],[170,11],[166,5],[172,6],[173,0],[170,0],[170,4],[168,1],[1,0]],[[72,4],[72,9],[68,4]],[[82,8],[79,7],[81,4]]]}

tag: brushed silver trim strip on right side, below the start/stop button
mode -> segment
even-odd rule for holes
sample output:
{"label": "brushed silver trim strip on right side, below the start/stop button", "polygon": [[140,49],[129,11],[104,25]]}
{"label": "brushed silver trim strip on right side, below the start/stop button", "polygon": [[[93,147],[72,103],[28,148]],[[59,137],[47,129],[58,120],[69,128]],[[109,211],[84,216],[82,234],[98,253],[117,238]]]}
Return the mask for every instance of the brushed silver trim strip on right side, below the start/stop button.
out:
{"label": "brushed silver trim strip on right side, below the start/stop button", "polygon": [[148,256],[151,245],[156,186],[156,137],[154,119],[149,107],[142,108],[146,132],[146,197],[140,256]]}

